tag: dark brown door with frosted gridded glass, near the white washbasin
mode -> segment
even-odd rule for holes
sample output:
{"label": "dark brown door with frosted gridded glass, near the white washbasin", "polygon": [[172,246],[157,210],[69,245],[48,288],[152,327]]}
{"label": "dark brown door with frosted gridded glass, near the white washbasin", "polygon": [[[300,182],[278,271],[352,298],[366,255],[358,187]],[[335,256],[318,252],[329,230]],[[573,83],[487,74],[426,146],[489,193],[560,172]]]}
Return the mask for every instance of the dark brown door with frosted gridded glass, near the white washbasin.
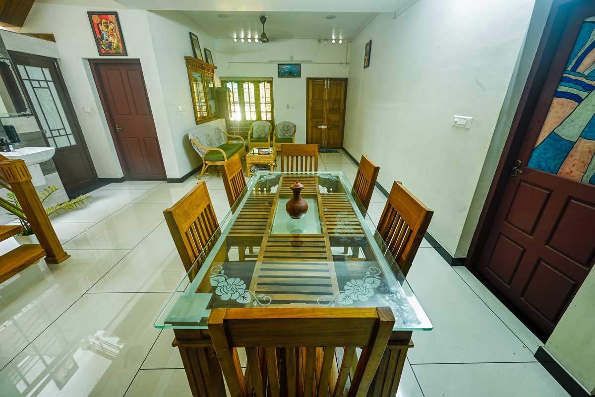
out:
{"label": "dark brown door with frosted gridded glass, near the white washbasin", "polygon": [[12,51],[10,57],[33,104],[43,138],[56,148],[53,160],[64,190],[73,198],[94,189],[98,182],[95,167],[57,60]]}

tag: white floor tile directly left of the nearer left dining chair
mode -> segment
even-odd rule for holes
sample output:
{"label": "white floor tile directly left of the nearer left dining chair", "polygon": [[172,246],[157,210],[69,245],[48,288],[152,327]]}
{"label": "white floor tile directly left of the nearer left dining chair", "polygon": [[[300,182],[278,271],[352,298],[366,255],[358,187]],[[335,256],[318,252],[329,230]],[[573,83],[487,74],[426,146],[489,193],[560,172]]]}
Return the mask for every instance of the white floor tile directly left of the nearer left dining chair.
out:
{"label": "white floor tile directly left of the nearer left dining chair", "polygon": [[89,292],[174,292],[184,274],[170,230],[161,223]]}

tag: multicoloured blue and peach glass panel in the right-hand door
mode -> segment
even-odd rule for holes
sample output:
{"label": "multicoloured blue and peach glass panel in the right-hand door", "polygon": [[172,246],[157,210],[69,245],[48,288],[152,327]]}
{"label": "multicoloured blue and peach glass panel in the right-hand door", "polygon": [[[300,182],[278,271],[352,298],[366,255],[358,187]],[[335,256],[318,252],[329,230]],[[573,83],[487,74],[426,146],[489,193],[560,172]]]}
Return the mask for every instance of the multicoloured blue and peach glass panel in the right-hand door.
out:
{"label": "multicoloured blue and peach glass panel in the right-hand door", "polygon": [[528,167],[595,185],[595,17],[587,18]]}

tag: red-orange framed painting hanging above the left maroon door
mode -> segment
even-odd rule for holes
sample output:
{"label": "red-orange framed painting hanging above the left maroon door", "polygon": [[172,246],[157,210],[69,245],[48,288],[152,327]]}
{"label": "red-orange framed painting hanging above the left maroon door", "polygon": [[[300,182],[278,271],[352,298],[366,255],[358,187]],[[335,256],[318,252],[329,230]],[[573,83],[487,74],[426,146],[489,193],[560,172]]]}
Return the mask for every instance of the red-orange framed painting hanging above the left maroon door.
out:
{"label": "red-orange framed painting hanging above the left maroon door", "polygon": [[87,15],[89,15],[99,55],[128,55],[117,12],[88,11]]}

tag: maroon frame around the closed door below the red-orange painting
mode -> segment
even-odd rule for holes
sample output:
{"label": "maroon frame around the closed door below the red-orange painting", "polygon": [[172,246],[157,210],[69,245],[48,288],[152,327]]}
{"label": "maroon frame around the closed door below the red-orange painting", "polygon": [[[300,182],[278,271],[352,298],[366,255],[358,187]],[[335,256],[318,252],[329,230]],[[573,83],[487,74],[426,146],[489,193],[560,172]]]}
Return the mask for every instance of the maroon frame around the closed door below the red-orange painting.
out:
{"label": "maroon frame around the closed door below the red-orange painting", "polygon": [[[99,100],[101,101],[101,108],[104,111],[105,120],[108,123],[109,133],[112,137],[112,142],[114,142],[114,148],[115,148],[116,154],[118,155],[118,161],[120,161],[120,168],[122,169],[122,173],[124,174],[124,179],[131,180],[130,170],[128,169],[128,165],[126,164],[126,158],[124,157],[124,154],[123,154],[123,149],[122,149],[122,146],[120,143],[120,139],[118,138],[118,135],[114,130],[115,123],[114,123],[114,120],[112,120],[111,111],[109,111],[107,102],[105,101],[105,92],[102,88],[101,79],[99,77],[99,71],[98,71],[99,65],[113,64],[113,63],[138,64],[139,68],[140,68],[140,73],[143,76],[143,86],[145,87],[147,96],[149,95],[149,91],[147,90],[147,87],[146,87],[145,73],[143,72],[142,64],[140,63],[139,58],[110,58],[107,60],[106,59],[98,59],[98,58],[90,58],[89,59],[89,66],[91,68],[91,74],[93,75],[93,82],[95,82],[95,88],[97,89],[97,93],[99,95]],[[149,102],[149,107],[151,107],[151,101],[149,100],[148,102]],[[155,124],[155,118],[154,118],[152,108],[151,108],[151,118],[153,119],[153,123]],[[155,133],[156,133],[156,130],[157,130],[157,128],[155,126]],[[161,145],[159,143],[159,136],[156,136],[156,138],[157,138],[157,145],[159,148],[159,153],[161,154],[161,158],[163,159],[163,154],[161,152]],[[164,164],[164,169],[165,169],[165,164]],[[166,177],[167,177],[167,171],[165,173],[166,173]]]}

